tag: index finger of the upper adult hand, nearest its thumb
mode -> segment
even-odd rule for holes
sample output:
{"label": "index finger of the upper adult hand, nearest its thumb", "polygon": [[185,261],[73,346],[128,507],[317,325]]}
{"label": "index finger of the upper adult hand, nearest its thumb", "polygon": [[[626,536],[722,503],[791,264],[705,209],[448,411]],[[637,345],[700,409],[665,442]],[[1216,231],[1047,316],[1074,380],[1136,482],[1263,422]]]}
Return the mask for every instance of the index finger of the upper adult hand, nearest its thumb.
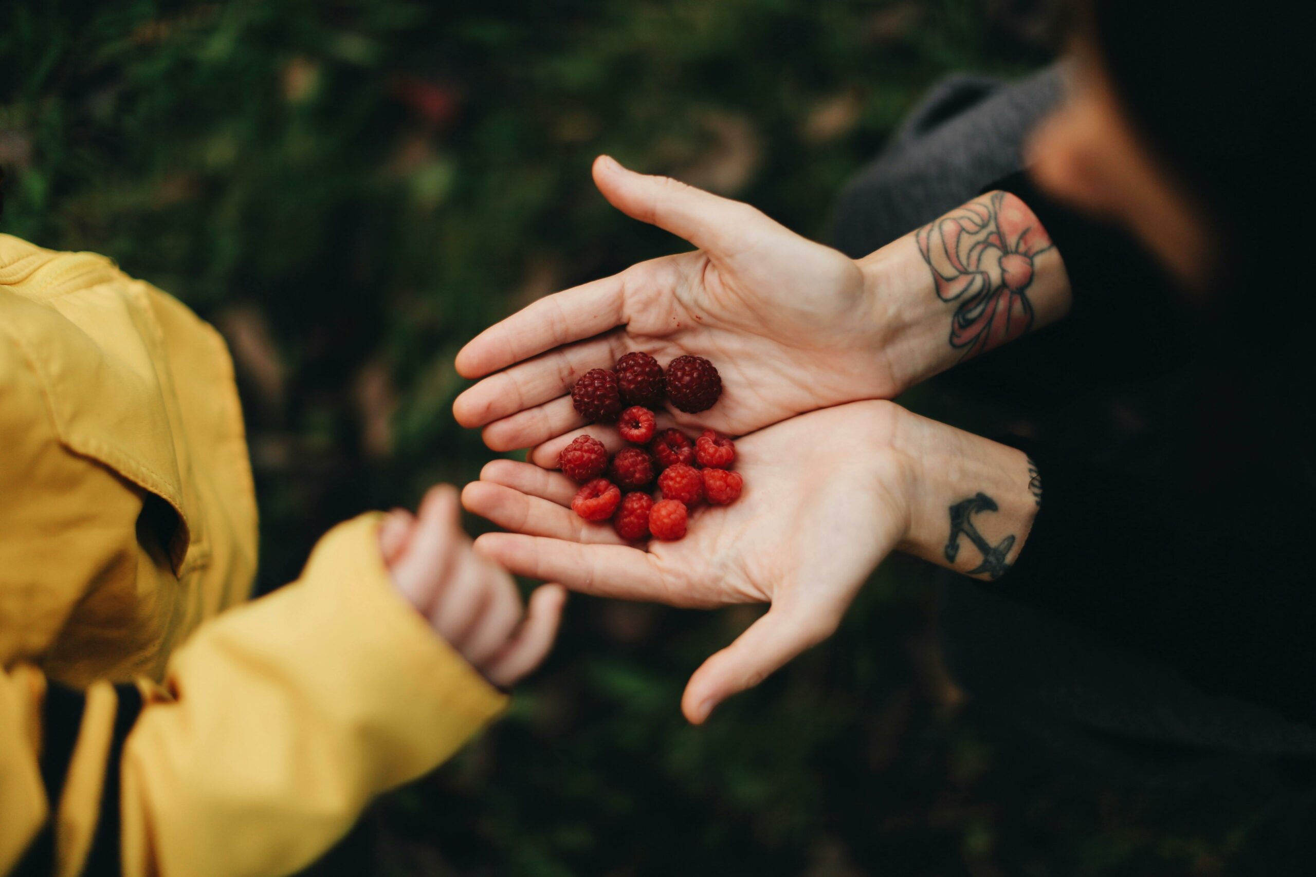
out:
{"label": "index finger of the upper adult hand, nearest its thumb", "polygon": [[540,298],[471,339],[457,354],[457,373],[484,377],[546,350],[621,325],[625,275],[613,275]]}

